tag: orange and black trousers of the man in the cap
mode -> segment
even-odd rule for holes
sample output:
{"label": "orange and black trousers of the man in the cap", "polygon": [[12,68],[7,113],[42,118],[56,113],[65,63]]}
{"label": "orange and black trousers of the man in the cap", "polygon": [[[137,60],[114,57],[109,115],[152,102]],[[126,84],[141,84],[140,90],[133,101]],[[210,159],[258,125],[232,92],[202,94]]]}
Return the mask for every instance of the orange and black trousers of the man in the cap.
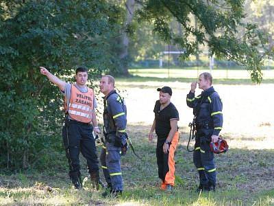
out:
{"label": "orange and black trousers of the man in the cap", "polygon": [[166,190],[166,185],[173,185],[175,183],[175,161],[174,153],[179,142],[179,133],[176,132],[171,145],[169,146],[169,152],[164,154],[163,143],[158,141],[156,148],[156,157],[158,164],[158,175],[162,179],[161,189]]}

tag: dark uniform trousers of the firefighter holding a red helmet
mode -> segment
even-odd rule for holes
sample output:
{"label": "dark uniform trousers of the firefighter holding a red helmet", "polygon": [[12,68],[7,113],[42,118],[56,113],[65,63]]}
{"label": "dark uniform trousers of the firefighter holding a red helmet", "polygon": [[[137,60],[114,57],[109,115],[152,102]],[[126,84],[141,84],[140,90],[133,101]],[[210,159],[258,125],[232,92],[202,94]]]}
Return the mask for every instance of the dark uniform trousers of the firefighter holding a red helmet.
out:
{"label": "dark uniform trousers of the firefighter holding a red helmet", "polygon": [[193,152],[193,162],[199,172],[200,185],[205,187],[215,187],[216,168],[214,164],[214,154],[210,150],[210,141],[213,129],[197,129],[195,150]]}

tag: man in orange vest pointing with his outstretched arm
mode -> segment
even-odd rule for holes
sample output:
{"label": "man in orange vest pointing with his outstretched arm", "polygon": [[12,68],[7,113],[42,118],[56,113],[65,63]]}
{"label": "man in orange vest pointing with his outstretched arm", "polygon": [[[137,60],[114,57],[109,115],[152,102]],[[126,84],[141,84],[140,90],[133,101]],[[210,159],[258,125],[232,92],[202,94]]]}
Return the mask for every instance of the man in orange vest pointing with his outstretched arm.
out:
{"label": "man in orange vest pointing with his outstretched arm", "polygon": [[79,67],[76,69],[75,84],[60,80],[50,73],[45,67],[40,67],[40,73],[47,76],[49,81],[57,85],[65,96],[65,123],[62,137],[66,149],[66,158],[69,162],[69,176],[75,189],[82,188],[79,152],[86,158],[88,172],[92,186],[99,189],[99,161],[92,130],[100,133],[97,125],[97,102],[92,89],[86,87],[88,69]]}

